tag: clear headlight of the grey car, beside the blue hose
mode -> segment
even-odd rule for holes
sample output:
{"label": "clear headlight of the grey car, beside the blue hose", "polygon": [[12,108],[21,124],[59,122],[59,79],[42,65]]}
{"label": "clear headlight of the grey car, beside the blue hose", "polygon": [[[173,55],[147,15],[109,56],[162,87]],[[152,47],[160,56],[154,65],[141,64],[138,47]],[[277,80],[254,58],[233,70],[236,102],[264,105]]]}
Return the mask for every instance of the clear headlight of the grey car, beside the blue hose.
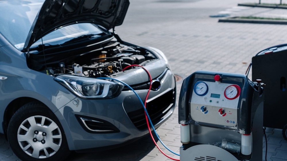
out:
{"label": "clear headlight of the grey car, beside the blue hose", "polygon": [[61,85],[82,98],[110,99],[121,94],[123,84],[82,76],[60,75],[54,78]]}

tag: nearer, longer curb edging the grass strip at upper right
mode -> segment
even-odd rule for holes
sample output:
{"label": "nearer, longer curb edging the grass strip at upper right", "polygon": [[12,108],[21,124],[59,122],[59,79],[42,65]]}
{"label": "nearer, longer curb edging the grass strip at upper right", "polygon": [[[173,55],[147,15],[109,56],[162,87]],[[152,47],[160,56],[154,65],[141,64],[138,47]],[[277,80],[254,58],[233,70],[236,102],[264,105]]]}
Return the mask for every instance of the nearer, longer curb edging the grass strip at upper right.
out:
{"label": "nearer, longer curb edging the grass strip at upper right", "polygon": [[241,18],[237,18],[237,17],[230,17],[230,18],[219,19],[218,22],[264,23],[264,24],[287,25],[287,20],[278,20],[278,19],[241,19]]}

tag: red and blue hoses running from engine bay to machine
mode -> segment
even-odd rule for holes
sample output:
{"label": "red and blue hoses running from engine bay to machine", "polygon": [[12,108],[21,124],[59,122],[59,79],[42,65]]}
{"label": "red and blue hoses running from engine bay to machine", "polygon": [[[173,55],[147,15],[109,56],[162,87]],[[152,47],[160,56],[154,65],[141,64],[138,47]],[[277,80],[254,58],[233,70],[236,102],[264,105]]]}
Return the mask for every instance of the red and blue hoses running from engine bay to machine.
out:
{"label": "red and blue hoses running from engine bay to machine", "polygon": [[[177,160],[177,161],[179,161],[179,159],[175,159],[175,158],[172,158],[172,157],[166,155],[166,154],[160,149],[160,147],[157,145],[156,141],[154,140],[154,137],[152,136],[152,132],[151,132],[151,130],[150,130],[150,125],[151,125],[151,126],[152,126],[152,129],[154,130],[154,133],[155,133],[156,137],[157,137],[158,140],[161,142],[161,144],[162,144],[166,149],[168,149],[170,152],[172,152],[172,151],[171,151],[169,148],[167,148],[167,147],[164,145],[164,143],[160,140],[160,138],[159,138],[158,134],[156,133],[156,130],[155,130],[153,124],[152,124],[152,121],[151,121],[151,119],[150,119],[150,117],[149,117],[149,115],[148,115],[148,111],[146,110],[146,101],[147,101],[147,99],[148,99],[148,95],[149,95],[149,93],[150,93],[151,84],[152,84],[152,79],[151,79],[150,73],[149,73],[143,66],[135,65],[135,64],[134,64],[134,65],[127,66],[127,67],[125,67],[123,70],[125,70],[125,69],[127,69],[127,68],[129,68],[129,67],[131,67],[131,66],[139,66],[139,67],[143,68],[143,69],[147,72],[147,74],[148,74],[148,76],[149,76],[149,78],[150,78],[150,87],[149,87],[148,93],[147,93],[147,95],[146,95],[145,103],[143,103],[143,102],[141,101],[141,98],[139,97],[139,95],[137,95],[137,93],[136,93],[129,85],[127,85],[126,83],[124,83],[124,82],[122,82],[122,81],[120,81],[120,80],[114,79],[114,78],[105,78],[105,77],[102,77],[102,78],[98,78],[98,79],[111,79],[111,80],[118,81],[118,82],[124,84],[125,86],[127,86],[129,89],[131,89],[131,90],[133,91],[133,93],[135,93],[135,95],[137,96],[137,98],[138,98],[139,101],[141,102],[141,105],[144,107],[146,122],[147,122],[147,125],[148,125],[148,130],[149,130],[150,136],[151,136],[151,138],[152,138],[152,141],[154,142],[154,144],[156,145],[156,147],[158,148],[158,150],[159,150],[162,154],[164,154],[166,157],[168,157],[168,158],[170,158],[170,159],[172,159],[172,160]],[[148,123],[149,121],[150,121],[150,125],[149,125],[149,123]],[[176,154],[176,153],[174,153],[174,152],[172,152],[172,153],[173,153],[173,154]],[[179,154],[176,154],[176,155],[179,156]]]}

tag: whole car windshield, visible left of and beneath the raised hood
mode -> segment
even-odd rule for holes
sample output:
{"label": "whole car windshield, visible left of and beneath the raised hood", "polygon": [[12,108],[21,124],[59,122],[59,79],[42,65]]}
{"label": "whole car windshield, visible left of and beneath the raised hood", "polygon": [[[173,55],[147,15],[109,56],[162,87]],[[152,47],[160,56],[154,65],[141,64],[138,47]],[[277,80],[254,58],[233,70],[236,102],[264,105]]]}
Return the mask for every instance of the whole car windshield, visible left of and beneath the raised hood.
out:
{"label": "whole car windshield, visible left of and beneath the raised hood", "polygon": [[[17,49],[23,49],[32,23],[43,2],[43,0],[0,0],[0,34]],[[91,23],[76,23],[53,30],[32,44],[30,48],[35,48],[42,43],[52,46],[79,41],[83,38],[94,39],[108,33]]]}

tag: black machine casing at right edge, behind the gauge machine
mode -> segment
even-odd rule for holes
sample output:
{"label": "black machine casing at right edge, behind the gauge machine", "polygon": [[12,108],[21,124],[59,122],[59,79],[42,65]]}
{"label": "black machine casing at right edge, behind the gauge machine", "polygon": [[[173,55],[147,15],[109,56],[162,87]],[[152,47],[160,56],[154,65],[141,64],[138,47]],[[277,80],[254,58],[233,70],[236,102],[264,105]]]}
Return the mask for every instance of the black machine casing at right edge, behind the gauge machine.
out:
{"label": "black machine casing at right edge, behind the gauge machine", "polygon": [[282,129],[287,125],[287,119],[284,119],[287,113],[285,102],[287,98],[287,46],[286,44],[278,46],[272,51],[270,54],[264,54],[266,52],[264,50],[252,58],[252,80],[260,78],[266,84],[263,125]]}

